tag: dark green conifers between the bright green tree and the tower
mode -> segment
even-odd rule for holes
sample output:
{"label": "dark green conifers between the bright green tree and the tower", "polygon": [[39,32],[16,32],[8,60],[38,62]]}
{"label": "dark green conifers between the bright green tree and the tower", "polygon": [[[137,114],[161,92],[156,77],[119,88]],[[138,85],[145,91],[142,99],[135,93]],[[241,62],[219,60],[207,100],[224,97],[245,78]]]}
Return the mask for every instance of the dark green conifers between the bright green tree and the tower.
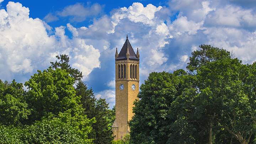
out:
{"label": "dark green conifers between the bright green tree and the tower", "polygon": [[76,81],[76,96],[80,97],[80,103],[82,108],[84,108],[84,114],[87,118],[96,119],[96,123],[92,124],[92,131],[89,133],[88,137],[94,139],[93,143],[95,144],[110,144],[113,140],[111,126],[114,122],[115,113],[112,110],[109,110],[108,103],[105,99],[97,100],[94,96],[92,88],[88,88],[85,82],[82,82],[82,73],[78,69],[71,68],[69,63],[69,57],[66,54],[61,54],[60,62],[50,62],[54,69],[61,68],[66,70],[72,78],[75,78]]}

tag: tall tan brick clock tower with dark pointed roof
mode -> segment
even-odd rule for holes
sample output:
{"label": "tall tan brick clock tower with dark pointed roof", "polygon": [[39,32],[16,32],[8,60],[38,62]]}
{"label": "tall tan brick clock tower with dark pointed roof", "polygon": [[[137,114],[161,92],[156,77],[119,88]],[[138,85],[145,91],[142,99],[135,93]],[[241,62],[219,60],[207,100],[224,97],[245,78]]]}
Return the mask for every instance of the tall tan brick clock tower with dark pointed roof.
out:
{"label": "tall tan brick clock tower with dark pointed roof", "polygon": [[139,50],[135,54],[126,37],[120,53],[116,49],[116,120],[112,125],[114,140],[129,132],[127,122],[132,118],[133,102],[139,94]]}

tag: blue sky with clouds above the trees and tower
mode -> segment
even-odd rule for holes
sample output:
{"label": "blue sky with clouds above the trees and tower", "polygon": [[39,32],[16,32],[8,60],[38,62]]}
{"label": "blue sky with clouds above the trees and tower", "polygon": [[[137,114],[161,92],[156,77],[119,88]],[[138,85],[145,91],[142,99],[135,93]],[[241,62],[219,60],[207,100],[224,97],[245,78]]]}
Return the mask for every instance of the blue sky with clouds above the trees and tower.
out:
{"label": "blue sky with clouds above the trees and tower", "polygon": [[152,71],[185,69],[201,44],[256,61],[255,0],[0,0],[0,79],[24,83],[68,54],[97,98],[115,103],[114,54],[126,34]]}

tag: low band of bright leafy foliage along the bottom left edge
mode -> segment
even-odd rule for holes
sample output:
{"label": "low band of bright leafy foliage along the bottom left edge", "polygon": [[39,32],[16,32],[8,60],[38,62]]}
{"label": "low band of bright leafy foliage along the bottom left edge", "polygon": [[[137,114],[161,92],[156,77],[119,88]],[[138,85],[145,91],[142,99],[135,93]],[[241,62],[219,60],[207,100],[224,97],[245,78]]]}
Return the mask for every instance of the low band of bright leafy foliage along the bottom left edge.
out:
{"label": "low band of bright leafy foliage along the bottom left edge", "polygon": [[[70,111],[61,113],[59,117],[49,115],[41,121],[25,127],[3,126],[0,124],[1,144],[40,144],[40,143],[66,143],[90,144],[92,139],[87,139],[90,133],[90,124],[95,119],[76,114],[71,117]],[[82,127],[82,129],[80,128]]]}

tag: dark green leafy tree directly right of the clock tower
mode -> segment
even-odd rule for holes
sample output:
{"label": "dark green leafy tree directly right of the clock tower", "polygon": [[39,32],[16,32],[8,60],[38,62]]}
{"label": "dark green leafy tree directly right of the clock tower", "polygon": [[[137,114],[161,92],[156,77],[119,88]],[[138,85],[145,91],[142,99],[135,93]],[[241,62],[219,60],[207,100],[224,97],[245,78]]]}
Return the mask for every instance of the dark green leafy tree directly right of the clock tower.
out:
{"label": "dark green leafy tree directly right of the clock tower", "polygon": [[169,142],[172,124],[171,105],[186,88],[187,73],[177,70],[173,74],[153,72],[140,87],[138,99],[134,102],[134,116],[128,122],[130,143],[165,144]]}

